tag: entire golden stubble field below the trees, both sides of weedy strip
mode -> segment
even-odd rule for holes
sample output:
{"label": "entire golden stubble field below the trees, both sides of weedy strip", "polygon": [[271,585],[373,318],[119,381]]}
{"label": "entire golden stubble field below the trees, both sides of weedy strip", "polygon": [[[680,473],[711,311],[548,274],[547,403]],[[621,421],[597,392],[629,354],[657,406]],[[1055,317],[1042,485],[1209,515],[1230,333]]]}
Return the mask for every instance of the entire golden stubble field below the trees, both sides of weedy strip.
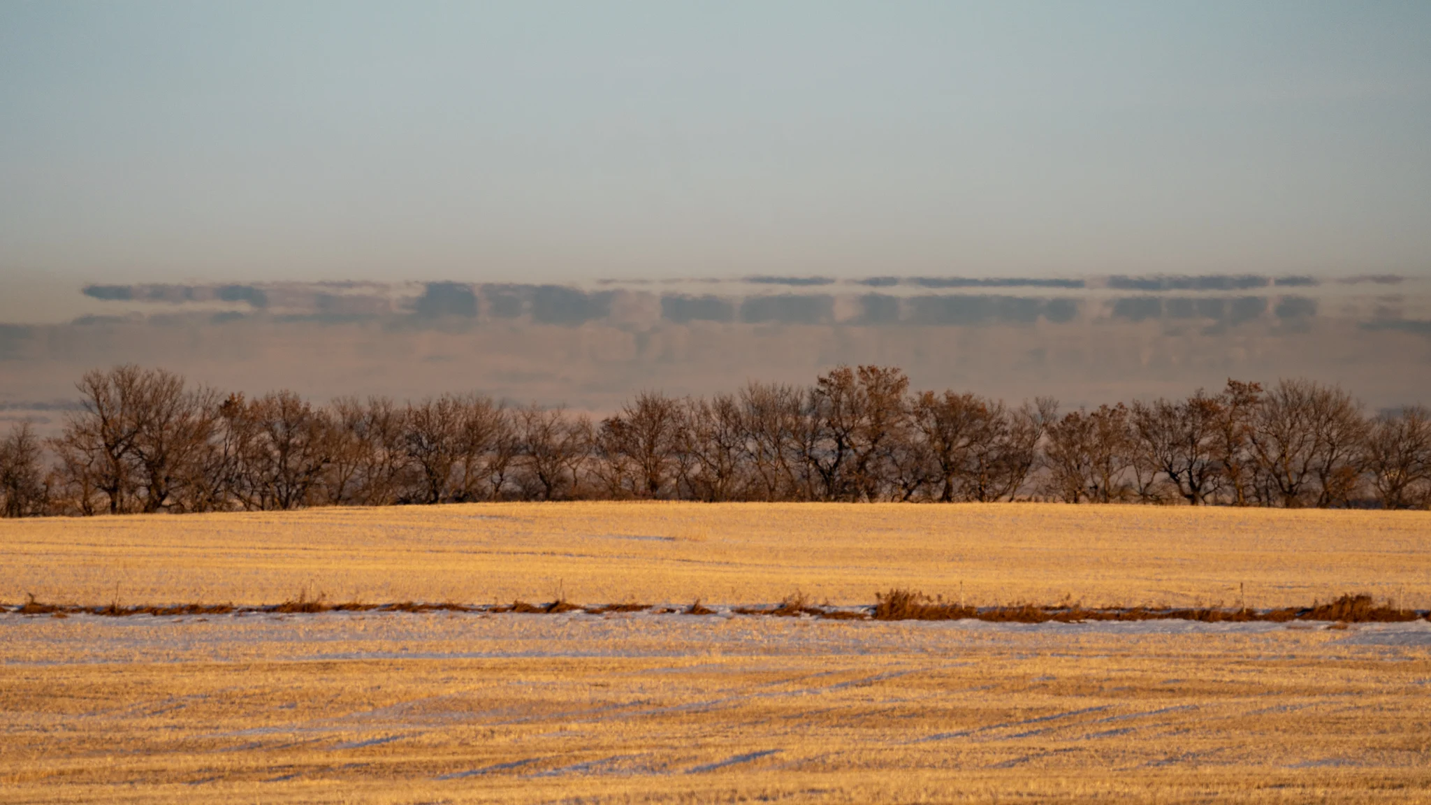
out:
{"label": "entire golden stubble field below the trees, both sides of weedy strip", "polygon": [[[1425,609],[1425,513],[552,504],[0,523],[0,600]],[[717,607],[721,609],[721,607]],[[0,802],[1431,801],[1431,623],[0,614]]]}

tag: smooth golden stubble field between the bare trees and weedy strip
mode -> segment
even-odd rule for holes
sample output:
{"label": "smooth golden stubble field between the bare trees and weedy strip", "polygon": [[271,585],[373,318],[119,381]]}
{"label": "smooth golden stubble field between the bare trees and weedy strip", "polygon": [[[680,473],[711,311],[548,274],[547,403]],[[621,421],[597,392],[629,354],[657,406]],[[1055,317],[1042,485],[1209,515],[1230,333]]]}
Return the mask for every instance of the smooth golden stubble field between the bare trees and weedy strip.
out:
{"label": "smooth golden stubble field between the bare trees and weedy strip", "polygon": [[[1431,513],[1163,507],[471,504],[0,521],[0,602],[335,600],[1431,609]],[[116,593],[117,587],[117,593]],[[1245,600],[1239,600],[1245,599]]]}

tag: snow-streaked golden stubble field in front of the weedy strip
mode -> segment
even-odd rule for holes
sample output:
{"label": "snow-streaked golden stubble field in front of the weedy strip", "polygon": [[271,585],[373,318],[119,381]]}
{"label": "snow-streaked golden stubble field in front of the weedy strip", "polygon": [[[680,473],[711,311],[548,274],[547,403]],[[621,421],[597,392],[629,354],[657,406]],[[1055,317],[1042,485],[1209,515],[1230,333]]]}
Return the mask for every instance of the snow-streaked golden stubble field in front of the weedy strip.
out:
{"label": "snow-streaked golden stubble field in front of the weedy strip", "polygon": [[11,617],[0,802],[1431,798],[1427,645],[1129,626]]}

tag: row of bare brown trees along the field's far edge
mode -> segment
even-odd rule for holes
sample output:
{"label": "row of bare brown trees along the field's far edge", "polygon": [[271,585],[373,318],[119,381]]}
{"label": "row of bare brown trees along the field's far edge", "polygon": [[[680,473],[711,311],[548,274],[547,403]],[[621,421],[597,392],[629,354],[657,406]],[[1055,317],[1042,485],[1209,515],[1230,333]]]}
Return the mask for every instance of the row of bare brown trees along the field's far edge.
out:
{"label": "row of bare brown trees along the field's far edge", "polygon": [[594,420],[478,394],[248,398],[122,365],[63,433],[0,441],[7,517],[488,500],[1431,506],[1431,414],[1375,417],[1307,380],[1060,411],[912,391],[892,367],[710,398],[647,391]]}

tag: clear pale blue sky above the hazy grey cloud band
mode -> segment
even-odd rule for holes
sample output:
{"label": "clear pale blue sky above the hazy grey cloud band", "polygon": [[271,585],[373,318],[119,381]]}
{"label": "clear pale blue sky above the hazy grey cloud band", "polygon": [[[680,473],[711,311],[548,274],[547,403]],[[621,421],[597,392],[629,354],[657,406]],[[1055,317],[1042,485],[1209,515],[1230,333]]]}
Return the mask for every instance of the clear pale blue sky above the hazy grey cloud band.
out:
{"label": "clear pale blue sky above the hazy grey cloud band", "polygon": [[0,4],[0,272],[1431,274],[1431,3]]}

